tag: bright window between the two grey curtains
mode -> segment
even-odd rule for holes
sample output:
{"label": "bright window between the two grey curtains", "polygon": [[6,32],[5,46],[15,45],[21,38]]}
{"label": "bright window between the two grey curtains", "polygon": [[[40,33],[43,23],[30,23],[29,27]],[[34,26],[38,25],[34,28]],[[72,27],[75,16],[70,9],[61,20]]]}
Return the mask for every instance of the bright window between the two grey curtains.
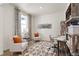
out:
{"label": "bright window between the two grey curtains", "polygon": [[29,36],[29,18],[28,15],[21,14],[21,35],[23,38]]}

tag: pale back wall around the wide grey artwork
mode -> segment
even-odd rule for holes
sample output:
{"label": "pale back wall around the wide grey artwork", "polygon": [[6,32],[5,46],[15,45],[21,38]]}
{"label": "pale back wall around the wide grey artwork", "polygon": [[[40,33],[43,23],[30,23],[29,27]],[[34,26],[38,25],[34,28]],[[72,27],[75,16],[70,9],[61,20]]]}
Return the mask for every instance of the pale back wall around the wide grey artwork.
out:
{"label": "pale back wall around the wide grey artwork", "polygon": [[[64,12],[32,16],[32,37],[34,32],[39,32],[42,40],[49,40],[49,35],[56,37],[60,35],[60,22],[65,20]],[[51,29],[39,29],[39,24],[52,24]]]}

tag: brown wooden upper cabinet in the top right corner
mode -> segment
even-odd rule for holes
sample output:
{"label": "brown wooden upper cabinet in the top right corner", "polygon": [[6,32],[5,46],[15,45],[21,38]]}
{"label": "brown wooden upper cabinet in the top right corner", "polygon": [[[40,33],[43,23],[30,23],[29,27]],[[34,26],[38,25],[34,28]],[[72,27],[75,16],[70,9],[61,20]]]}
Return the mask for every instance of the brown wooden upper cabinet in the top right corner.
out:
{"label": "brown wooden upper cabinet in the top right corner", "polygon": [[79,20],[79,4],[78,3],[71,3],[66,11],[65,23],[69,23],[73,20]]}

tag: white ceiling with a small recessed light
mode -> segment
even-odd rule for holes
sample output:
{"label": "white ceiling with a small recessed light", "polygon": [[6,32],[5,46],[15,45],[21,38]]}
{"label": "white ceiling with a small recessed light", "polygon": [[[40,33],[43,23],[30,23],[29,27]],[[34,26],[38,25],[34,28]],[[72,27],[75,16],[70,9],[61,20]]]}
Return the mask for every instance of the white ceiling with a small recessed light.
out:
{"label": "white ceiling with a small recessed light", "polygon": [[67,3],[18,3],[15,5],[32,15],[64,12],[67,7]]}

